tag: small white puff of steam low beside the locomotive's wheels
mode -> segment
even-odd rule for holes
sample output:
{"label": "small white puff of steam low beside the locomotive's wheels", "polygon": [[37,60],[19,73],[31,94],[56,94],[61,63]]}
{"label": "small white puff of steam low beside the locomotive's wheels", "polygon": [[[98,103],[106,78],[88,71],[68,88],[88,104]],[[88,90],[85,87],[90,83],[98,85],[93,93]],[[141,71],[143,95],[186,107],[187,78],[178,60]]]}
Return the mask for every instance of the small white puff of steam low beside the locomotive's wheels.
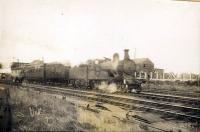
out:
{"label": "small white puff of steam low beside the locomotive's wheels", "polygon": [[115,83],[111,83],[108,85],[107,83],[102,82],[101,85],[99,85],[98,89],[106,93],[114,93],[117,91],[117,85]]}

